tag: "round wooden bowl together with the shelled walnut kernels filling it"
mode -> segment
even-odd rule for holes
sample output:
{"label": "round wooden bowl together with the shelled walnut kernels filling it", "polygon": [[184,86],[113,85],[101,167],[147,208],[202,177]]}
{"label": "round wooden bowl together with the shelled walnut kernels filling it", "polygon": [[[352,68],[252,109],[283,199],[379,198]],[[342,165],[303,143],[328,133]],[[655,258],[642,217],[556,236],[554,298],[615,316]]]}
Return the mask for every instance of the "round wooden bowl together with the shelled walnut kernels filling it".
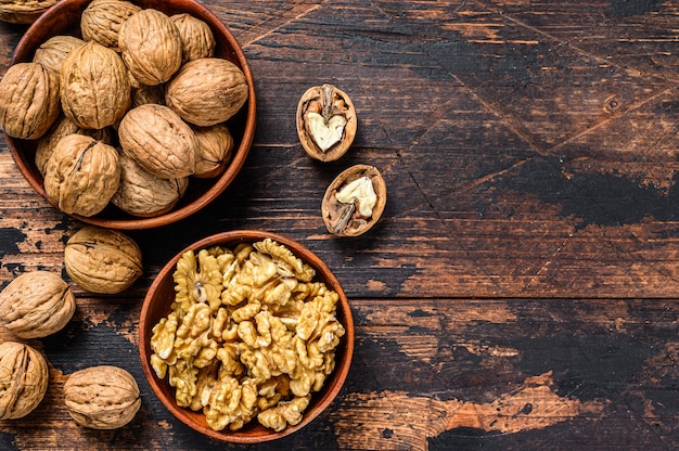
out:
{"label": "round wooden bowl together with the shelled walnut kernels filling it", "polygon": [[257,443],[318,417],[349,372],[354,322],[325,263],[289,237],[228,231],[177,254],[142,305],[155,395],[218,440]]}

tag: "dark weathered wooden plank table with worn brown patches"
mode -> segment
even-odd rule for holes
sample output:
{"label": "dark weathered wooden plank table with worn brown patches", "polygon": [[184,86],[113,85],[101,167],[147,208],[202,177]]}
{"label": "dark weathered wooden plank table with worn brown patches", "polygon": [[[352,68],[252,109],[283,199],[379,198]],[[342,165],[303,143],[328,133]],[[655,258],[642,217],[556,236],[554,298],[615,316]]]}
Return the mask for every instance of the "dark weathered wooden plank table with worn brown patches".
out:
{"label": "dark weathered wooden plank table with worn brown patches", "polygon": [[[0,448],[238,450],[175,421],[137,351],[141,299],[164,261],[205,235],[265,229],[316,252],[343,283],[355,359],[332,408],[257,449],[679,447],[679,3],[206,0],[256,79],[255,144],[236,183],[195,217],[129,232],[144,276],[30,340],[50,388]],[[0,69],[25,27],[3,24]],[[354,100],[347,155],[304,153],[295,108],[331,82]],[[370,164],[376,229],[335,239],[325,188]],[[82,224],[24,181],[0,142],[0,280],[63,273]],[[0,338],[12,335],[0,332]],[[136,420],[76,426],[69,373],[116,364],[140,383]],[[252,448],[247,448],[252,449]]]}

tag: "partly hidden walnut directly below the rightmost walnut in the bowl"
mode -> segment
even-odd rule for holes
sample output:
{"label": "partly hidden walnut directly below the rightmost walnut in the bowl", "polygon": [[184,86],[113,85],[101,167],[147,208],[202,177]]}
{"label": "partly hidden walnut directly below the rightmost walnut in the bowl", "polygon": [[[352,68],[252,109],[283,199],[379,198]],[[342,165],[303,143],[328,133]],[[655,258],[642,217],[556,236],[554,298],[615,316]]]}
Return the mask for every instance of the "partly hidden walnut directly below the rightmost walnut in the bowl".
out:
{"label": "partly hidden walnut directly below the rightmost walnut in the bowl", "polygon": [[194,176],[209,178],[221,175],[233,152],[233,137],[225,124],[212,127],[193,127],[198,140],[198,162]]}

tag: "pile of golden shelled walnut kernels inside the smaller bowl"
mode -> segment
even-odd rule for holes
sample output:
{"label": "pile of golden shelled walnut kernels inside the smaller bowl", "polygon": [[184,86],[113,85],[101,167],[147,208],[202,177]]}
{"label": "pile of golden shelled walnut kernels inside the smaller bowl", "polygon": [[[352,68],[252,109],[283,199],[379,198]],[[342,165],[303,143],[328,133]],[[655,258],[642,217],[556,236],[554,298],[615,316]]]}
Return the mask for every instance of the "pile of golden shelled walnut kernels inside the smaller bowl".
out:
{"label": "pile of golden shelled walnut kernels inside the smaller bowl", "polygon": [[277,431],[303,418],[335,366],[338,295],[272,241],[187,252],[171,312],[153,328],[151,365],[177,403],[222,430],[257,421]]}

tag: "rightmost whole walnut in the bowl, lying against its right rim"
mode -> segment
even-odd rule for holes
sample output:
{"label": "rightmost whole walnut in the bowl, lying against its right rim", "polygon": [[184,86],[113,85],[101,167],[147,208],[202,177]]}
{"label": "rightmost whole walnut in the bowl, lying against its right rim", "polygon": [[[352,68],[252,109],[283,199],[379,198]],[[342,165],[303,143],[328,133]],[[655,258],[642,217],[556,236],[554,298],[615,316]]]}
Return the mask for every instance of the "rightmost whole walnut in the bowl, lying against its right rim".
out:
{"label": "rightmost whole walnut in the bowl, lying against its right rim", "polygon": [[190,61],[165,89],[167,106],[185,121],[201,127],[230,119],[245,104],[247,95],[243,72],[218,57]]}

